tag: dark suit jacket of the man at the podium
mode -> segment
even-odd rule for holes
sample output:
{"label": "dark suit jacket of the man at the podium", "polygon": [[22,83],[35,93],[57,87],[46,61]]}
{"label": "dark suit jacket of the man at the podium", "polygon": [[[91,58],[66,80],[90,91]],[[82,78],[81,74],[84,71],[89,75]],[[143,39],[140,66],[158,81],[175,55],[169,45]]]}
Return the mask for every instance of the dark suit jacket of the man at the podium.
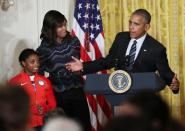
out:
{"label": "dark suit jacket of the man at the podium", "polygon": [[[125,54],[130,42],[129,32],[120,32],[105,58],[100,58],[92,62],[83,63],[84,74],[97,72],[104,69],[116,67],[125,70]],[[157,40],[147,34],[139,54],[130,71],[135,72],[155,72],[158,71],[165,82],[170,85],[174,73],[169,67],[166,48]]]}

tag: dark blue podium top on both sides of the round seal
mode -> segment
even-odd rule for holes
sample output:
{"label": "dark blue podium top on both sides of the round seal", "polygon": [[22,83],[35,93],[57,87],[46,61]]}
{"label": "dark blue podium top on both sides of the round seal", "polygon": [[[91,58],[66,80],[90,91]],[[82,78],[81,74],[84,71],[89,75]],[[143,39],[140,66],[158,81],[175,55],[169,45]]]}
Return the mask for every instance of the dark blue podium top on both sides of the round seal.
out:
{"label": "dark blue podium top on both sides of the round seal", "polygon": [[[137,90],[160,91],[165,87],[164,81],[154,72],[131,73],[132,83],[130,89],[125,93]],[[109,74],[90,74],[86,77],[85,92],[92,94],[116,94],[108,84]]]}

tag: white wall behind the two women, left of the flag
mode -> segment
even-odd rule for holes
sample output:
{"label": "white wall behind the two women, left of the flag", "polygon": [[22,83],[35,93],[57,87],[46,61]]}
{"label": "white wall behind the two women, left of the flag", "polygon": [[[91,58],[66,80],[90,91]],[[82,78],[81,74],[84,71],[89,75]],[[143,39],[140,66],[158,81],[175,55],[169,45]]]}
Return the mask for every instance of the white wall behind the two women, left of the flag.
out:
{"label": "white wall behind the two women, left of the flag", "polygon": [[71,29],[75,0],[15,0],[7,11],[0,9],[0,82],[21,71],[18,56],[24,48],[36,49],[45,13],[63,13]]}

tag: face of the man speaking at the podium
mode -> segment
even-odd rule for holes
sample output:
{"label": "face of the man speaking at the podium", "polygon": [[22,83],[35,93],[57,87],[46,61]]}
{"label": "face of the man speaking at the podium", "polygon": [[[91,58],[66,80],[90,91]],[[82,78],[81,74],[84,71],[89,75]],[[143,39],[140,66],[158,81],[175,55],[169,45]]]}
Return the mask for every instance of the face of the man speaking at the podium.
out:
{"label": "face of the man speaking at the podium", "polygon": [[138,39],[142,37],[149,29],[150,25],[147,24],[145,18],[141,15],[133,14],[129,20],[130,37]]}

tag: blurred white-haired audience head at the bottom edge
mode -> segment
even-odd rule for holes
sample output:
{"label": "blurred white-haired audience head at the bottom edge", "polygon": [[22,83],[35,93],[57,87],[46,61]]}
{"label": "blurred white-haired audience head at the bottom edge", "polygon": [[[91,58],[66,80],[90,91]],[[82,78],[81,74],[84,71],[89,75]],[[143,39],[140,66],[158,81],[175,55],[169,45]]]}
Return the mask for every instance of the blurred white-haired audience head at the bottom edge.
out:
{"label": "blurred white-haired audience head at the bottom edge", "polygon": [[58,117],[49,120],[43,131],[82,131],[82,127],[74,120],[67,117]]}

